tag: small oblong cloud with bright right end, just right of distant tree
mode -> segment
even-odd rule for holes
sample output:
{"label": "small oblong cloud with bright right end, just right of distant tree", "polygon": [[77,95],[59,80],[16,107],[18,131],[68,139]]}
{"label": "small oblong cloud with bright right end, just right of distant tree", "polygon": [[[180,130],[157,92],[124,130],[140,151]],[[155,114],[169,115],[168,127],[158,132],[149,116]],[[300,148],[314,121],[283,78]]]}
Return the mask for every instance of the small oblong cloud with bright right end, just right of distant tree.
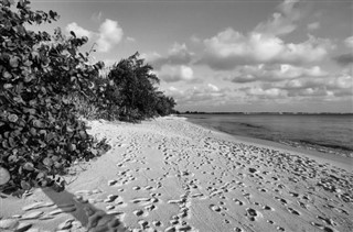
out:
{"label": "small oblong cloud with bright right end, just right of distant tree", "polygon": [[164,65],[157,75],[165,82],[175,82],[180,80],[191,81],[194,79],[194,71],[191,67]]}

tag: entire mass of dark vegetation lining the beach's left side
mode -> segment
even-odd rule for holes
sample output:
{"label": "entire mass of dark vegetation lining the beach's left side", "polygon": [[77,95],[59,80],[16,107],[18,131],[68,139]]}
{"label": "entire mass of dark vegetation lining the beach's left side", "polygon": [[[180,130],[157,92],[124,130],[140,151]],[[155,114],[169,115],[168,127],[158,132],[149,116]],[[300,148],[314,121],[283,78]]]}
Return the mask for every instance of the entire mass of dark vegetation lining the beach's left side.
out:
{"label": "entire mass of dark vegetation lining the beach's left side", "polygon": [[89,64],[89,54],[78,49],[87,37],[26,30],[58,19],[29,4],[0,1],[0,191],[19,195],[32,187],[63,189],[57,175],[109,148],[79,118],[138,122],[175,106],[158,91],[158,77],[138,53],[103,77],[104,63]]}

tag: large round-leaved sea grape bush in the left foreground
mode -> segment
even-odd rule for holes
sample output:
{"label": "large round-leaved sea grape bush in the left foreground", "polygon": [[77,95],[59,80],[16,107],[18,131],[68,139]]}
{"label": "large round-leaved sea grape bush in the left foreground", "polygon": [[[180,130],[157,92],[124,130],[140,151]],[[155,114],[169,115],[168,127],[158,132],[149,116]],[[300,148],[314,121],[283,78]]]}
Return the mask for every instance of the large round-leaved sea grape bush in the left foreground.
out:
{"label": "large round-leaved sea grape bush in the left foreground", "polygon": [[87,54],[78,53],[87,37],[26,30],[26,23],[58,18],[31,11],[29,3],[19,1],[14,12],[12,1],[0,2],[0,167],[11,177],[3,191],[53,185],[74,161],[108,148],[87,134],[67,99],[72,92],[95,95],[89,87],[103,63],[87,65]]}

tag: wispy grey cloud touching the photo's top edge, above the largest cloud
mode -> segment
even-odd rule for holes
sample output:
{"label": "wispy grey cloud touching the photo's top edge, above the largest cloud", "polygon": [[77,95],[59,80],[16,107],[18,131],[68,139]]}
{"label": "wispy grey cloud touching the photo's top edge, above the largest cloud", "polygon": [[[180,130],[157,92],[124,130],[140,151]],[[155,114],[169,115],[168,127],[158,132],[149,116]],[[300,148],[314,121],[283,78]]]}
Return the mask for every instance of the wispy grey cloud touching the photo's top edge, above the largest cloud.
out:
{"label": "wispy grey cloud touching the photo's top edge, above the largest cloud", "polygon": [[255,32],[270,35],[286,35],[297,29],[296,22],[301,18],[299,0],[285,0],[278,5],[279,12],[272,14],[267,22],[261,22]]}

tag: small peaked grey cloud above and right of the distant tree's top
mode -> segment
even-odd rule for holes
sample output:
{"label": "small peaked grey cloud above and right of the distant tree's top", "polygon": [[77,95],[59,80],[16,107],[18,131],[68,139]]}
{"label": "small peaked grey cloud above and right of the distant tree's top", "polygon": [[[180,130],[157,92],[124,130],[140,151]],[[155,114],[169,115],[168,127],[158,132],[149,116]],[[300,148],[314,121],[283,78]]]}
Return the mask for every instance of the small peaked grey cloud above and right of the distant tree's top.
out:
{"label": "small peaked grey cloud above and right of the distant tree's top", "polygon": [[193,54],[189,52],[185,44],[174,43],[168,51],[168,55],[154,57],[150,63],[156,69],[160,69],[163,65],[188,65],[192,59]]}

